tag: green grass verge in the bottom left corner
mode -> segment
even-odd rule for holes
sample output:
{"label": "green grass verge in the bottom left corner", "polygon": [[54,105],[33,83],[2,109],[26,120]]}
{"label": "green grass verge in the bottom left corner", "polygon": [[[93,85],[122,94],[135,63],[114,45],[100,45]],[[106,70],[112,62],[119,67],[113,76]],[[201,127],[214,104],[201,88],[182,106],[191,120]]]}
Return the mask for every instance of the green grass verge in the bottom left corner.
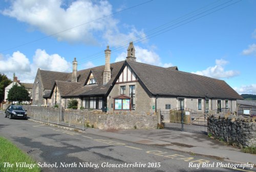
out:
{"label": "green grass verge in the bottom left corner", "polygon": [[16,145],[0,137],[0,171],[39,172],[41,170],[37,167],[37,163]]}

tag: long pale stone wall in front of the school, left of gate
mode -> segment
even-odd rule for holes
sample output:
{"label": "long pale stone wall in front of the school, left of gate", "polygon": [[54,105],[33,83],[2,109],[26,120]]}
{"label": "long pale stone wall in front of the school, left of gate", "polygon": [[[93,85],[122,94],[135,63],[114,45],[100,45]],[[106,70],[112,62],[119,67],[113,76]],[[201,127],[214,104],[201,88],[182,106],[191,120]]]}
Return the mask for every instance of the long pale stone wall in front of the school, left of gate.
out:
{"label": "long pale stone wall in front of the school, left of gate", "polygon": [[[45,119],[45,121],[50,117],[49,121],[53,123],[57,123],[57,120],[60,121],[60,123],[69,123],[71,121],[74,125],[83,124],[84,126],[93,126],[102,130],[157,128],[156,113],[136,113],[133,111],[105,113],[97,110],[66,109],[61,111],[59,108],[30,105],[25,105],[24,107],[29,116],[36,116],[37,119]],[[59,119],[56,117],[59,117]]]}

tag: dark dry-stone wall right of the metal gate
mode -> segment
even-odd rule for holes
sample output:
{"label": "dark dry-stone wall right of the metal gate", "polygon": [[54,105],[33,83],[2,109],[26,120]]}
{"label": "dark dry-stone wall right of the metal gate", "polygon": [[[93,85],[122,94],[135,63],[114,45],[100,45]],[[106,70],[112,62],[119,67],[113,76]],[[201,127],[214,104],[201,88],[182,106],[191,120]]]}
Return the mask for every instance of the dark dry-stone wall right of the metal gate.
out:
{"label": "dark dry-stone wall right of the metal gate", "polygon": [[208,133],[232,145],[256,146],[256,118],[211,115],[208,117]]}

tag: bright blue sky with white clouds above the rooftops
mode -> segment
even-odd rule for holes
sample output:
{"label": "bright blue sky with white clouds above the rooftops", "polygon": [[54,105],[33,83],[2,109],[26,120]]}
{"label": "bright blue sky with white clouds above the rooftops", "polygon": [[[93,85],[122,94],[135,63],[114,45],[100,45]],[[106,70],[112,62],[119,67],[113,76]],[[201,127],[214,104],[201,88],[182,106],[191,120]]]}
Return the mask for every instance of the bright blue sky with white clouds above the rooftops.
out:
{"label": "bright blue sky with white clouds above the rooftops", "polygon": [[72,72],[124,60],[226,81],[256,94],[254,0],[0,1],[0,73],[33,83],[37,69]]}

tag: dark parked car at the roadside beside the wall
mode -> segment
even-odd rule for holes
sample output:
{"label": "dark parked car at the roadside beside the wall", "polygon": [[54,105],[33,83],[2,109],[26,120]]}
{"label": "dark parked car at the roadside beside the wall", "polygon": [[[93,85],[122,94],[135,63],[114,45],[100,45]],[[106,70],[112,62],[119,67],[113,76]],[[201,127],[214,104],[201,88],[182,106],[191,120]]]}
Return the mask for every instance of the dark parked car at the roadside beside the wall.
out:
{"label": "dark parked car at the roadside beside the wall", "polygon": [[27,110],[22,105],[9,105],[5,110],[5,117],[27,119]]}

